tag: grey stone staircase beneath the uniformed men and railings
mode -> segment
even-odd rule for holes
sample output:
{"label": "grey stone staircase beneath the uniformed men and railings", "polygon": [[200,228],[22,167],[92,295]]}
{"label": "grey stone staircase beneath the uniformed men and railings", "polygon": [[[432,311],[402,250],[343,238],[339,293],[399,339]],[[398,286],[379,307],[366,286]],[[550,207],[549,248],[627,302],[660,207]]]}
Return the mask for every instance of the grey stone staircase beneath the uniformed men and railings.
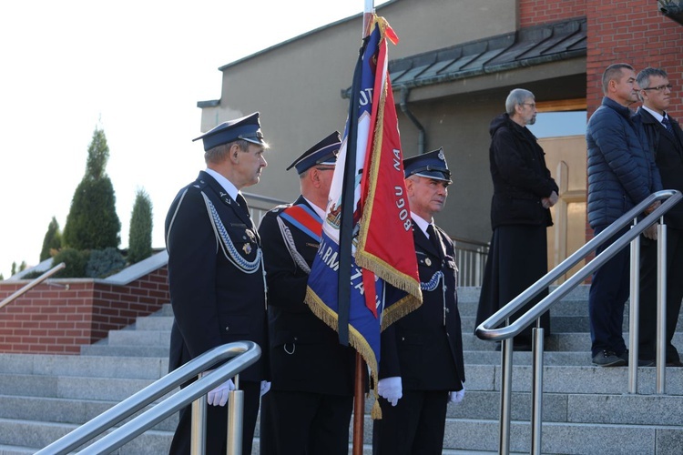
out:
{"label": "grey stone staircase beneath the uniformed men and railings", "polygon": [[[494,453],[498,448],[500,353],[494,343],[473,335],[478,294],[478,288],[459,293],[467,392],[460,405],[449,405],[443,453],[452,455]],[[546,339],[544,357],[543,453],[682,454],[683,368],[667,369],[667,395],[655,393],[655,369],[640,368],[639,393],[627,394],[627,368],[602,369],[590,363],[586,300],[587,287],[580,287],[551,310],[553,334]],[[171,322],[166,306],[83,347],[80,356],[0,354],[0,455],[34,453],[166,374]],[[678,327],[683,327],[680,319]],[[683,347],[683,333],[674,344]],[[529,453],[531,353],[515,352],[514,360],[511,448]],[[371,406],[366,403],[368,454]],[[117,453],[167,453],[176,423],[176,416],[161,422]],[[258,450],[256,440],[254,453]]]}

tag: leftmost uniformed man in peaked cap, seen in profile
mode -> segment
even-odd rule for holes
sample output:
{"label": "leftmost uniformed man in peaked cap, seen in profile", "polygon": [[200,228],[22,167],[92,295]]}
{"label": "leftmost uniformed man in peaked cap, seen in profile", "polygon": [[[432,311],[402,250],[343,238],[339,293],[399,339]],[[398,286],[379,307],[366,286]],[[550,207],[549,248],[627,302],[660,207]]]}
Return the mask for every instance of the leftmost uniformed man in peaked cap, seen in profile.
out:
{"label": "leftmost uniformed man in peaked cap, seen in profile", "polygon": [[[250,340],[268,346],[265,270],[260,238],[240,194],[259,182],[267,146],[259,113],[225,122],[199,136],[207,168],[178,192],[166,217],[168,284],[175,316],[168,368],[209,349]],[[260,393],[267,391],[267,356],[240,373],[244,390],[242,453],[251,453]],[[207,453],[226,453],[229,379],[209,391]],[[191,411],[180,411],[170,453],[189,454]]]}

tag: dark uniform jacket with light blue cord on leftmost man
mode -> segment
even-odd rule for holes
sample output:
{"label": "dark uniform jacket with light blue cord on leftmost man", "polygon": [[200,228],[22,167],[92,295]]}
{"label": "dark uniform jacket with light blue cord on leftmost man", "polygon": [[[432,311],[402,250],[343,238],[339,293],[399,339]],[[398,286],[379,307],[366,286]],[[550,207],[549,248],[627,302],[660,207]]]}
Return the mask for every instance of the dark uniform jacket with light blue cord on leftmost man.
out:
{"label": "dark uniform jacket with light blue cord on leftmost man", "polygon": [[[250,340],[267,346],[260,239],[246,211],[206,172],[173,200],[166,218],[168,284],[175,315],[169,369],[209,349]],[[267,378],[266,352],[240,379]]]}

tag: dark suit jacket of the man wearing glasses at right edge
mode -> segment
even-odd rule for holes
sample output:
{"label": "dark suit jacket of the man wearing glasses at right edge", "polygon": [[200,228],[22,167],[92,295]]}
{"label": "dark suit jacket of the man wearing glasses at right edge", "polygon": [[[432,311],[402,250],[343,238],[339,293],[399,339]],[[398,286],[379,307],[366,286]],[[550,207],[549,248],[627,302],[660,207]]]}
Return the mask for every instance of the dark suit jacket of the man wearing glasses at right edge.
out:
{"label": "dark suit jacket of the man wearing glasses at right edge", "polygon": [[[645,109],[638,109],[636,119],[640,120],[647,136],[647,143],[662,179],[662,187],[683,191],[683,131],[676,119],[668,116],[674,134],[671,135],[661,122]],[[670,227],[683,229],[683,204],[678,203],[664,216]]]}

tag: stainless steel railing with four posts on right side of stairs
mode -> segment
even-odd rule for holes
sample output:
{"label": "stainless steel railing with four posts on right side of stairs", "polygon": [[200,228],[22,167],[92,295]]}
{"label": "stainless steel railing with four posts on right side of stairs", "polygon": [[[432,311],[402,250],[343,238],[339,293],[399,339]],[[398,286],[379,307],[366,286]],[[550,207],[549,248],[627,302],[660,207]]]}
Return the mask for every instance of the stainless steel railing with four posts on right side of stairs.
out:
{"label": "stainless steel railing with four posts on right side of stairs", "polygon": [[[550,307],[556,304],[561,298],[565,297],[569,291],[581,284],[591,273],[597,268],[605,264],[610,258],[613,258],[619,251],[631,244],[631,298],[630,298],[630,329],[629,329],[629,363],[628,363],[628,378],[629,391],[636,392],[637,382],[637,319],[638,319],[638,237],[640,234],[653,223],[660,221],[658,226],[658,354],[657,354],[657,376],[658,376],[658,393],[663,393],[664,389],[664,351],[663,344],[664,335],[662,333],[665,324],[663,319],[666,314],[666,225],[663,224],[663,216],[669,209],[678,204],[678,201],[683,197],[680,192],[676,190],[664,190],[647,197],[644,201],[636,207],[629,210],[624,216],[620,217],[612,223],[607,229],[592,238],[582,248],[576,250],[574,254],[562,261],[556,268],[550,270],[543,278],[540,278],[531,287],[527,288],[519,296],[514,298],[505,307],[499,309],[489,319],[484,320],[479,327],[476,328],[476,335],[480,339],[488,340],[502,340],[503,349],[501,352],[501,416],[500,416],[500,433],[499,433],[499,448],[498,453],[510,453],[510,420],[511,420],[511,400],[512,400],[512,365],[513,365],[513,337],[518,335],[522,330],[526,329],[532,323],[536,322],[536,328],[533,329],[533,381],[532,381],[532,453],[540,453],[541,450],[541,404],[542,404],[542,390],[543,390],[543,329],[540,327],[539,319]],[[637,220],[647,207],[650,207],[655,201],[664,200],[664,202],[655,209],[652,213],[647,215],[641,221]],[[634,223],[626,234],[618,238],[612,245],[602,251],[599,255],[591,260],[584,268],[581,268],[572,277],[568,278],[564,283],[559,285],[547,297],[538,302],[533,308],[530,308],[515,322],[510,323],[510,317],[515,314],[517,310],[524,307],[526,303],[532,298],[535,298],[539,292],[548,288],[557,278],[564,275],[570,268],[576,266],[579,261],[584,260],[589,254],[596,250],[600,245],[607,242],[609,238],[615,236],[621,229],[627,227],[631,222]],[[500,324],[505,322],[505,326],[499,329]],[[660,391],[661,390],[661,391]]]}

